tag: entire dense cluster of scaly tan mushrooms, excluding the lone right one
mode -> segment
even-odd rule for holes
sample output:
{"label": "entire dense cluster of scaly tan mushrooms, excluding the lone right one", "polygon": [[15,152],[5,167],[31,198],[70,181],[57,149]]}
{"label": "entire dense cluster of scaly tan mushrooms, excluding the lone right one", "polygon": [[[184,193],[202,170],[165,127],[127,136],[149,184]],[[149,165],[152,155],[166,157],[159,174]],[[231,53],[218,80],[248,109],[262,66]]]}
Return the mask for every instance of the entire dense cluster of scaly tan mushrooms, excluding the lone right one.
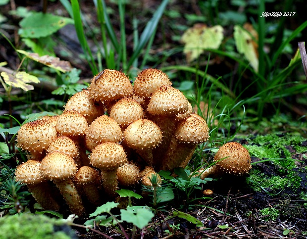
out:
{"label": "entire dense cluster of scaly tan mushrooms, excluding the lone right one", "polygon": [[[58,210],[55,195],[61,194],[70,211],[81,215],[88,202],[97,206],[120,187],[185,167],[209,129],[171,85],[157,69],[141,71],[133,85],[120,71],[102,71],[61,115],[21,126],[17,146],[29,160],[17,167],[16,180],[43,207]],[[52,186],[59,193],[48,193]]]}

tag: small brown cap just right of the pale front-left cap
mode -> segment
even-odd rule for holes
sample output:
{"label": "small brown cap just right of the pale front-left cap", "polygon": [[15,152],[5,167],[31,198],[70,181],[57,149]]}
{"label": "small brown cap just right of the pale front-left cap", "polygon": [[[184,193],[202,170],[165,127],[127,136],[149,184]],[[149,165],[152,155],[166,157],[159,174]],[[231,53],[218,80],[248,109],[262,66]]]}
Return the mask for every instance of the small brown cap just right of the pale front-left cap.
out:
{"label": "small brown cap just right of the pale front-left cap", "polygon": [[97,169],[89,166],[82,166],[75,175],[77,184],[97,184],[100,180],[100,174]]}

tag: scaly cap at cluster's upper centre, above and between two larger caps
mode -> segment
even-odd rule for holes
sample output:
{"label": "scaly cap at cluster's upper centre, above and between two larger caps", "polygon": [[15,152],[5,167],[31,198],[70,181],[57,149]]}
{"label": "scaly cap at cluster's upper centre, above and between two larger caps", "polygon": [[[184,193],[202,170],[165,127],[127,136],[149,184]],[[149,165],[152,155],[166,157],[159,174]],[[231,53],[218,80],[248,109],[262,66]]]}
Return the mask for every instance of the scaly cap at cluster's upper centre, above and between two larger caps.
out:
{"label": "scaly cap at cluster's upper centre, above and between two larger caps", "polygon": [[137,101],[132,98],[122,98],[111,108],[110,117],[121,128],[125,128],[133,121],[144,118],[144,113],[142,106]]}

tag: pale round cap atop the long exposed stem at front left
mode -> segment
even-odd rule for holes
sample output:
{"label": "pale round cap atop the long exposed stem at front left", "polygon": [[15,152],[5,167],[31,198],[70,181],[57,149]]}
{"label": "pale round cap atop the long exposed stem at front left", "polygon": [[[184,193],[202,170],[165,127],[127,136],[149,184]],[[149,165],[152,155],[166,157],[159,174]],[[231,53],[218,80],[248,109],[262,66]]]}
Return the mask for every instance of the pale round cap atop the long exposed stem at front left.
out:
{"label": "pale round cap atop the long exposed stem at front left", "polygon": [[65,181],[77,172],[77,165],[72,157],[62,152],[51,152],[42,159],[41,170],[45,179]]}

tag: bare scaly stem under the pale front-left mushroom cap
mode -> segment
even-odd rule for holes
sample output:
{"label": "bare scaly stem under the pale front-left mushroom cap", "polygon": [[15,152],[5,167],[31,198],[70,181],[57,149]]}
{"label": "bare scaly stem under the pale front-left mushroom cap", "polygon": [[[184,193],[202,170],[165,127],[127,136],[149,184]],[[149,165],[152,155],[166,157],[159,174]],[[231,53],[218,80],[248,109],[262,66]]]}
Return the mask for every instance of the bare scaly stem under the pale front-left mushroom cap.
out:
{"label": "bare scaly stem under the pale front-left mushroom cap", "polygon": [[66,181],[53,181],[55,186],[66,200],[72,213],[82,215],[85,212],[81,197],[71,179]]}

